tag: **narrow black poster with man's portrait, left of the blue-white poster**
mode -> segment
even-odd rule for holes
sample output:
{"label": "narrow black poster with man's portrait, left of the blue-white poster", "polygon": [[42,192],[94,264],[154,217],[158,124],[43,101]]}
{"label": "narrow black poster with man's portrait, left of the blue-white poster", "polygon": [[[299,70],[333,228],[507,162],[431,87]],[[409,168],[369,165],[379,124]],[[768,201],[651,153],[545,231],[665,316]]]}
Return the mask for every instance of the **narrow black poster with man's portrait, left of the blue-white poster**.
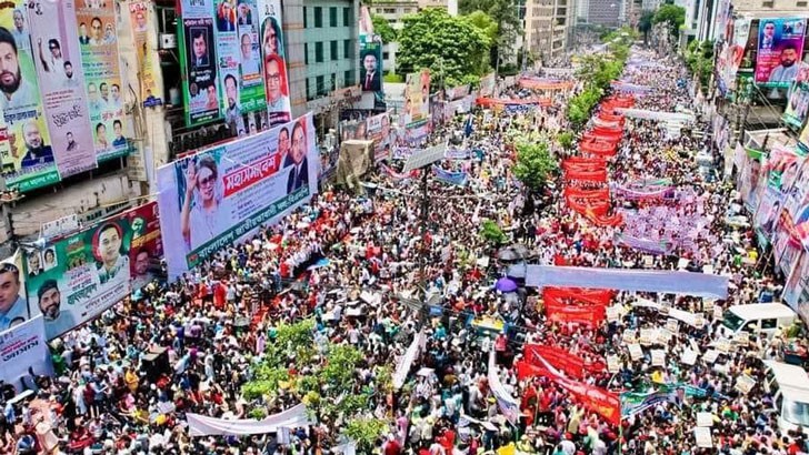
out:
{"label": "narrow black poster with man's portrait, left of the blue-white poster", "polygon": [[186,125],[196,127],[222,118],[213,20],[232,20],[213,12],[213,0],[181,0],[178,27]]}

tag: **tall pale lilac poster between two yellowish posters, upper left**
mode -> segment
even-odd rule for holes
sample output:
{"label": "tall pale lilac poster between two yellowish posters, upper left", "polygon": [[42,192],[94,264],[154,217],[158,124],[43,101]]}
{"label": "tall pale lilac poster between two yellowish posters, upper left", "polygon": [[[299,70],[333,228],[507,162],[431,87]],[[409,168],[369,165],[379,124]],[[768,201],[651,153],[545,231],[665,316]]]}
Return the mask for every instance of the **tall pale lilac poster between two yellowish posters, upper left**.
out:
{"label": "tall pale lilac poster between two yellowish posters, upper left", "polygon": [[51,148],[62,179],[97,166],[74,14],[73,0],[43,2],[28,14]]}

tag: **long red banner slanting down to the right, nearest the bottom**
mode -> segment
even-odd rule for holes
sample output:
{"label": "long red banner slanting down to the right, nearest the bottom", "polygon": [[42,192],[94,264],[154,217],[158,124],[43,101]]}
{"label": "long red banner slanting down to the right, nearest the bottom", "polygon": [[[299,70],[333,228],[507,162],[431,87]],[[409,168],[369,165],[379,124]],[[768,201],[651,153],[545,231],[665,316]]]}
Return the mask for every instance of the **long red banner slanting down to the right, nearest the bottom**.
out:
{"label": "long red banner slanting down to the right, nearest the bottom", "polygon": [[[540,361],[540,364],[542,363]],[[611,425],[618,426],[621,424],[621,401],[617,394],[610,393],[605,388],[568,380],[559,374],[555,374],[547,367],[531,365],[525,361],[517,362],[517,377],[522,381],[531,376],[550,378],[571,394],[580,404],[603,417]]]}

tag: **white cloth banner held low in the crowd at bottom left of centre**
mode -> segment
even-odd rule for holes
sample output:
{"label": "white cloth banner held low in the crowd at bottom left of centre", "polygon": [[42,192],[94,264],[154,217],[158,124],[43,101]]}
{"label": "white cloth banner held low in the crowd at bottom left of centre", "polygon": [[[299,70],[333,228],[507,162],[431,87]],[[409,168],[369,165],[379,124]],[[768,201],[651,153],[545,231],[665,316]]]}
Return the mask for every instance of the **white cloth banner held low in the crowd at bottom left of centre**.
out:
{"label": "white cloth banner held low in the crowd at bottom left of centre", "polygon": [[280,428],[309,426],[307,407],[302,403],[260,421],[254,418],[229,421],[200,414],[186,414],[186,418],[191,436],[241,436],[276,433]]}

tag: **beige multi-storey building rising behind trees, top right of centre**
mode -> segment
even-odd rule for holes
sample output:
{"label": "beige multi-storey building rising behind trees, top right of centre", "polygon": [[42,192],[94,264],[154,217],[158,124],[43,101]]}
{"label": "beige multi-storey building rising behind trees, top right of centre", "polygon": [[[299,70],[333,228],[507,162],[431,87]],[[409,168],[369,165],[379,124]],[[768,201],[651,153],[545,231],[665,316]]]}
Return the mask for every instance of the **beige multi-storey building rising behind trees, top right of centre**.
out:
{"label": "beige multi-storey building rising behind trees, top right of centre", "polygon": [[572,0],[527,0],[525,42],[535,58],[546,63],[562,54],[572,32]]}

